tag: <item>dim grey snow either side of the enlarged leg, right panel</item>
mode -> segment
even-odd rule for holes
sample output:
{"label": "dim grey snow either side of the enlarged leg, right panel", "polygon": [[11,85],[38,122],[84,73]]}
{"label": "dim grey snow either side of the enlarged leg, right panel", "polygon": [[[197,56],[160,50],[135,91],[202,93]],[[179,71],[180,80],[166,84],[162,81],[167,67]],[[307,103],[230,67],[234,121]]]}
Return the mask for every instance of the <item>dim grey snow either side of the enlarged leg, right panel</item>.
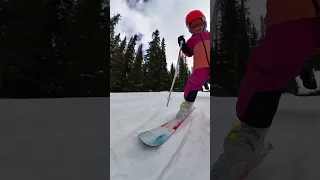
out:
{"label": "dim grey snow either side of the enlarged leg, right panel", "polygon": [[[221,142],[237,124],[236,98],[211,98],[212,162]],[[284,95],[267,136],[274,150],[246,180],[320,179],[320,97]]]}

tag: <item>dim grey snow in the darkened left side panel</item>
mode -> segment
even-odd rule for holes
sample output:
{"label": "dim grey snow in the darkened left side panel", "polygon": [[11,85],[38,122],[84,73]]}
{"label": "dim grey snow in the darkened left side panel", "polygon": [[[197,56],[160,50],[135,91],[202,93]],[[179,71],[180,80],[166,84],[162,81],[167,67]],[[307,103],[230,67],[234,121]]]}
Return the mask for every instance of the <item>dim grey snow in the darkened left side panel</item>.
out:
{"label": "dim grey snow in the darkened left side panel", "polygon": [[106,180],[109,98],[0,99],[1,180]]}

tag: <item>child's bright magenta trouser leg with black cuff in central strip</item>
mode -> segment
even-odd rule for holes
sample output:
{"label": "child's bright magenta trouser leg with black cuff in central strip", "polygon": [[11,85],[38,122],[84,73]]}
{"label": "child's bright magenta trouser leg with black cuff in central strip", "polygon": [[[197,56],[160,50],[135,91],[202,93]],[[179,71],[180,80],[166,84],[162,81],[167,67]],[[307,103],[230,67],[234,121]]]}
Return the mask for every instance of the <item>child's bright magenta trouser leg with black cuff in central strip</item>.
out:
{"label": "child's bright magenta trouser leg with black cuff in central strip", "polygon": [[188,79],[187,86],[184,89],[184,99],[188,102],[194,102],[198,91],[210,77],[210,68],[195,69]]}

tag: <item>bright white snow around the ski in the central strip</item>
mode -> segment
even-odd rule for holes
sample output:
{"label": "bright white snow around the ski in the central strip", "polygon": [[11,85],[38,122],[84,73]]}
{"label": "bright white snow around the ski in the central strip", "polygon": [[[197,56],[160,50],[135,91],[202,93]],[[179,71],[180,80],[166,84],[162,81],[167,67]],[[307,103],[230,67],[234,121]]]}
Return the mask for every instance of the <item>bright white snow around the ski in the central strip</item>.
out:
{"label": "bright white snow around the ski in the central strip", "polygon": [[210,93],[199,92],[195,111],[157,148],[146,147],[140,132],[172,119],[183,100],[168,92],[111,94],[111,180],[210,179]]}

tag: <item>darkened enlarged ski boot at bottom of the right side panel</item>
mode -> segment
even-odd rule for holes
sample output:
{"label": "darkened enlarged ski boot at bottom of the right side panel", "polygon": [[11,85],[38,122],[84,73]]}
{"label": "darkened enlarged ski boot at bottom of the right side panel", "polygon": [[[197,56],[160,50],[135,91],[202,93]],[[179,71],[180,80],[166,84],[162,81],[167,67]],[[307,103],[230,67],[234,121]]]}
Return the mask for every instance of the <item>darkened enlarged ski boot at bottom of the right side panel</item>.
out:
{"label": "darkened enlarged ski boot at bottom of the right side panel", "polygon": [[268,128],[253,128],[244,123],[234,126],[224,140],[224,153],[214,163],[212,180],[240,180],[264,150]]}

